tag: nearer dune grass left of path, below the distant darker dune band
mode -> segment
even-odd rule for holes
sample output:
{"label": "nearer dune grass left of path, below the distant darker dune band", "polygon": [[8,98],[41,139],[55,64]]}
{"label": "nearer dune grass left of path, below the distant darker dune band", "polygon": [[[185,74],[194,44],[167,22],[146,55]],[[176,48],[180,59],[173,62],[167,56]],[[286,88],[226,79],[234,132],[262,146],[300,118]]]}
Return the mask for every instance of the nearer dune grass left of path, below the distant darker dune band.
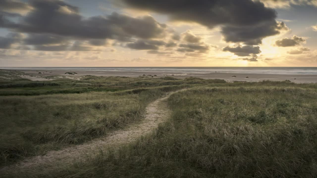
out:
{"label": "nearer dune grass left of path, below the distant darker dune band", "polygon": [[0,162],[10,164],[105,136],[142,118],[149,102],[184,87],[1,97]]}

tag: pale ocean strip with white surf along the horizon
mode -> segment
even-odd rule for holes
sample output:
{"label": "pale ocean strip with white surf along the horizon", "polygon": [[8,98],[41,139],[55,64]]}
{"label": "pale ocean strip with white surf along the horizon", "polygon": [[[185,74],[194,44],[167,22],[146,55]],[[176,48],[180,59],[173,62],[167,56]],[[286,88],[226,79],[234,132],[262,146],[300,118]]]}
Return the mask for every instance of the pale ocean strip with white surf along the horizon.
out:
{"label": "pale ocean strip with white surf along the horizon", "polygon": [[129,71],[167,73],[317,74],[317,67],[0,67],[10,70]]}

